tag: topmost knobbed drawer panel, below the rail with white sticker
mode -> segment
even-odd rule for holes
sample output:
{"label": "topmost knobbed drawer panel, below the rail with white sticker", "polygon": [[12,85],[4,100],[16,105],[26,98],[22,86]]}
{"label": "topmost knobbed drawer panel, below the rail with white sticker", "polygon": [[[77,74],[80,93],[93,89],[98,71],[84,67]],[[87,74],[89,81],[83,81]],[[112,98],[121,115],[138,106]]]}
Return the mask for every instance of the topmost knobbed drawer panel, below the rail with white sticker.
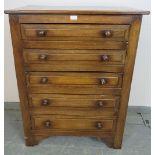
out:
{"label": "topmost knobbed drawer panel, below the rail with white sticker", "polygon": [[129,25],[21,24],[26,40],[128,40]]}

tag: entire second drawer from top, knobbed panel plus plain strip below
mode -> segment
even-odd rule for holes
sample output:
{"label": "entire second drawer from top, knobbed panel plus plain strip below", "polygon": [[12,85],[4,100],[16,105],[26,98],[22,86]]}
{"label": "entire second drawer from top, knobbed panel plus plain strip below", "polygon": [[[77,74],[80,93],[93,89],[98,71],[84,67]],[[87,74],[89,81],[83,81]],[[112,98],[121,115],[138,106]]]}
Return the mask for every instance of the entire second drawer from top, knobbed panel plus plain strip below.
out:
{"label": "entire second drawer from top, knobbed panel plus plain strip below", "polygon": [[24,49],[26,71],[123,72],[124,50]]}

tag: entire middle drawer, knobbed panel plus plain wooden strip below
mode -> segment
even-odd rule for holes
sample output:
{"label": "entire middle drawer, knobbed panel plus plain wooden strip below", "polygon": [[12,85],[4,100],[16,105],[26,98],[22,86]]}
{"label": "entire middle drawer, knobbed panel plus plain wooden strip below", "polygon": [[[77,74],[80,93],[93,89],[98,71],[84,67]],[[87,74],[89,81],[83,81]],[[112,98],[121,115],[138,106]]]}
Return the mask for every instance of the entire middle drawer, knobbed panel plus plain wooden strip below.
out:
{"label": "entire middle drawer, knobbed panel plus plain wooden strip below", "polygon": [[122,74],[31,72],[27,81],[30,93],[120,95]]}

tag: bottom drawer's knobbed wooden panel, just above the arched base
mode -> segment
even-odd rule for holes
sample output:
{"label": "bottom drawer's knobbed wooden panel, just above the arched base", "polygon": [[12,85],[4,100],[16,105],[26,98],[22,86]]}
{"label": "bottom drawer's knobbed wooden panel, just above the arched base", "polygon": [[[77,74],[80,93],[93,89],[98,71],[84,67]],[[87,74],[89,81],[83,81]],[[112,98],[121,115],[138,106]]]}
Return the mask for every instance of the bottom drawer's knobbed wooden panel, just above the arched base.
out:
{"label": "bottom drawer's knobbed wooden panel, just above the arched base", "polygon": [[115,126],[114,120],[103,119],[77,119],[77,118],[56,118],[53,115],[33,116],[33,129],[48,130],[102,130],[113,131]]}

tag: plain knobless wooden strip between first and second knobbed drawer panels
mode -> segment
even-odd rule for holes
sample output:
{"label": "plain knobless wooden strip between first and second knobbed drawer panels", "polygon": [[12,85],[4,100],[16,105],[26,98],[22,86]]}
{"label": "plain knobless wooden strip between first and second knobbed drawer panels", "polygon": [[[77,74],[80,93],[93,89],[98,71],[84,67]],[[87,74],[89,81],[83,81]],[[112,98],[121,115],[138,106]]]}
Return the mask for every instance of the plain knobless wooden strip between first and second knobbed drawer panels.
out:
{"label": "plain knobless wooden strip between first and second knobbed drawer panels", "polygon": [[40,49],[114,49],[126,50],[128,42],[126,41],[23,41],[24,48],[40,48]]}

